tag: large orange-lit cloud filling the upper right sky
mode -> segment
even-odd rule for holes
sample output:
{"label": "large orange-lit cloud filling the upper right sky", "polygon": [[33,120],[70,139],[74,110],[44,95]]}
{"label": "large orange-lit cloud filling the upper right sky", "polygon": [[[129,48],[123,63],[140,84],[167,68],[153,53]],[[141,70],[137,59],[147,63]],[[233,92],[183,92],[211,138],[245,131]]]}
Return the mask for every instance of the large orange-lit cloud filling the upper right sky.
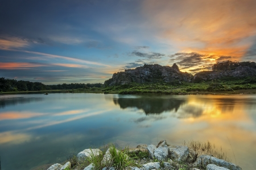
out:
{"label": "large orange-lit cloud filling the upper right sky", "polygon": [[254,0],[181,0],[143,3],[143,13],[159,31],[159,39],[181,52],[237,56],[240,59],[256,35]]}

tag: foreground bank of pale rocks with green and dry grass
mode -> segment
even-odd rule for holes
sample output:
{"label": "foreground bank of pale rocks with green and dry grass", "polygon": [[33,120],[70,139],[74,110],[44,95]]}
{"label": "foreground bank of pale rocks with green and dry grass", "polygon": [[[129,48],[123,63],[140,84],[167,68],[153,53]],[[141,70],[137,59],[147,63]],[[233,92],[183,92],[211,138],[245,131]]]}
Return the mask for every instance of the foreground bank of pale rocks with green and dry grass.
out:
{"label": "foreground bank of pale rocks with green and dry grass", "polygon": [[115,148],[114,144],[101,149],[85,149],[71,157],[64,165],[51,165],[47,170],[242,170],[230,163],[221,151],[209,142],[191,141],[187,146],[174,146],[162,140],[154,144],[140,144],[136,148]]}

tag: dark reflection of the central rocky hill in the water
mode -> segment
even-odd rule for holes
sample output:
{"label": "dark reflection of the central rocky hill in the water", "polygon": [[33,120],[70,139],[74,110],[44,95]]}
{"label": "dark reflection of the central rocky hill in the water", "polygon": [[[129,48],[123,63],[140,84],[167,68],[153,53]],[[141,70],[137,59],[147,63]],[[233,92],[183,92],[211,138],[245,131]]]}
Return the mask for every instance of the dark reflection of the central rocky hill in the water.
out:
{"label": "dark reflection of the central rocky hill in the water", "polygon": [[160,114],[163,111],[177,111],[179,107],[185,103],[185,99],[181,98],[157,98],[157,97],[141,97],[141,98],[114,98],[115,104],[120,105],[122,109],[127,107],[137,107],[142,109],[146,114]]}

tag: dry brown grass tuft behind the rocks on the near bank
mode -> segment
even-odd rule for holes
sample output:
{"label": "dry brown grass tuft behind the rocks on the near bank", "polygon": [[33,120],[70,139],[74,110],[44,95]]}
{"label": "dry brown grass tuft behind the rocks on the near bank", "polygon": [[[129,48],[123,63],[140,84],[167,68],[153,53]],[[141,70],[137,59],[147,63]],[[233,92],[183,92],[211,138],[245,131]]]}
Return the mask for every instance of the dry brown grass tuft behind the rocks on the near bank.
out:
{"label": "dry brown grass tuft behind the rocks on the near bank", "polygon": [[232,161],[230,157],[228,157],[226,153],[222,151],[221,147],[220,149],[218,149],[215,147],[214,144],[211,144],[209,141],[200,142],[191,140],[187,143],[184,141],[183,144],[196,151],[199,155],[212,155],[214,157],[217,157],[218,159],[223,159],[228,162]]}

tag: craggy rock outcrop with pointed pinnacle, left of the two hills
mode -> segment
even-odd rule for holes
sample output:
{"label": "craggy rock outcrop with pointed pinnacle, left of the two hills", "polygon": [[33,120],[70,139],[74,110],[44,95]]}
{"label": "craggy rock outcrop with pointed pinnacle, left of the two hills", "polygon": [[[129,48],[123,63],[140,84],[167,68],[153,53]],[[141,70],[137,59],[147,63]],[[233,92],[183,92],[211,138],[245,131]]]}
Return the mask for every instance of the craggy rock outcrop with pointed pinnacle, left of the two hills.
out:
{"label": "craggy rock outcrop with pointed pinnacle, left of the two hills", "polygon": [[125,72],[114,73],[113,77],[106,80],[105,86],[130,84],[131,82],[168,82],[191,81],[193,76],[187,72],[180,72],[176,64],[162,66],[158,64],[145,64],[143,67],[126,69]]}

